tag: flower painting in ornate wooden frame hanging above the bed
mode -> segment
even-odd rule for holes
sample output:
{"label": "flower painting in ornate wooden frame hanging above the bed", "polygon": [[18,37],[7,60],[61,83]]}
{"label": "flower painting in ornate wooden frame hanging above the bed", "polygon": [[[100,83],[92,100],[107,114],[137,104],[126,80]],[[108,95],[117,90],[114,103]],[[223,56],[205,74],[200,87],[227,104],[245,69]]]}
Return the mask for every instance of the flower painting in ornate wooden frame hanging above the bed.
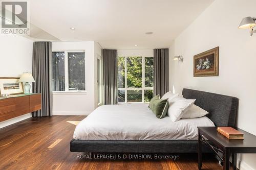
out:
{"label": "flower painting in ornate wooden frame hanging above the bed", "polygon": [[193,70],[194,77],[219,76],[219,46],[195,55]]}

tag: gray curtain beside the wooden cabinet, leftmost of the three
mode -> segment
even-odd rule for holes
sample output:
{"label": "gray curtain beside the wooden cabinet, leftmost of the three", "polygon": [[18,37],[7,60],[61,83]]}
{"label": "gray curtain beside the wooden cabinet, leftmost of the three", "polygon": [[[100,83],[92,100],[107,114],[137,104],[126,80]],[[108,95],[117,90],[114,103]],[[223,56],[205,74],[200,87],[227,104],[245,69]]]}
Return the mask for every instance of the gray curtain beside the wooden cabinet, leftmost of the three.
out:
{"label": "gray curtain beside the wooden cabinet, leftmost of the three", "polygon": [[33,117],[52,115],[52,42],[34,42],[32,75],[35,83],[33,93],[41,93],[42,108],[32,113]]}

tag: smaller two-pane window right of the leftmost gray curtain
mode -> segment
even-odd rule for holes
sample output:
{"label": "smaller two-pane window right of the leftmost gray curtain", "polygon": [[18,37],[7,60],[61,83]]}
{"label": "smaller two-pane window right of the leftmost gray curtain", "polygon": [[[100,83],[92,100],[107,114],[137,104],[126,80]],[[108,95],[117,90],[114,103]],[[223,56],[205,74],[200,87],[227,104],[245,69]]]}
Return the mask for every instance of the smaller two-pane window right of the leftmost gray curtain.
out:
{"label": "smaller two-pane window right of the leftmost gray curtain", "polygon": [[84,52],[53,52],[52,88],[53,91],[86,90]]}

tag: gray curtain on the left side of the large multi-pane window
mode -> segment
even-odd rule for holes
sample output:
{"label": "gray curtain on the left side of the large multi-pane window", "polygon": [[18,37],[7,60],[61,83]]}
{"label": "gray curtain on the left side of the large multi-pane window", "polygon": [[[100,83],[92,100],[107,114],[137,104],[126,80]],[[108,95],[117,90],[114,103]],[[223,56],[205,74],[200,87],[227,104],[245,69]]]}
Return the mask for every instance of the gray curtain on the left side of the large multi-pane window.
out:
{"label": "gray curtain on the left side of the large multi-pane window", "polygon": [[117,50],[103,49],[104,104],[118,104]]}

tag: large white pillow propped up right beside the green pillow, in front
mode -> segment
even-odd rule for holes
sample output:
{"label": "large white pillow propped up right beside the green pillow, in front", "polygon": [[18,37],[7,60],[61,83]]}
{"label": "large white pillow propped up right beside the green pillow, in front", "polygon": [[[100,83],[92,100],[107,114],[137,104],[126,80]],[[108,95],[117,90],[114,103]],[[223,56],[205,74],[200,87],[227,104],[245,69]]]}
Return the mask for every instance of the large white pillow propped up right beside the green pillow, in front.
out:
{"label": "large white pillow propped up right beside the green pillow, in front", "polygon": [[193,106],[195,101],[196,99],[181,99],[172,102],[168,108],[168,116],[173,122],[178,121],[181,119],[183,114]]}

